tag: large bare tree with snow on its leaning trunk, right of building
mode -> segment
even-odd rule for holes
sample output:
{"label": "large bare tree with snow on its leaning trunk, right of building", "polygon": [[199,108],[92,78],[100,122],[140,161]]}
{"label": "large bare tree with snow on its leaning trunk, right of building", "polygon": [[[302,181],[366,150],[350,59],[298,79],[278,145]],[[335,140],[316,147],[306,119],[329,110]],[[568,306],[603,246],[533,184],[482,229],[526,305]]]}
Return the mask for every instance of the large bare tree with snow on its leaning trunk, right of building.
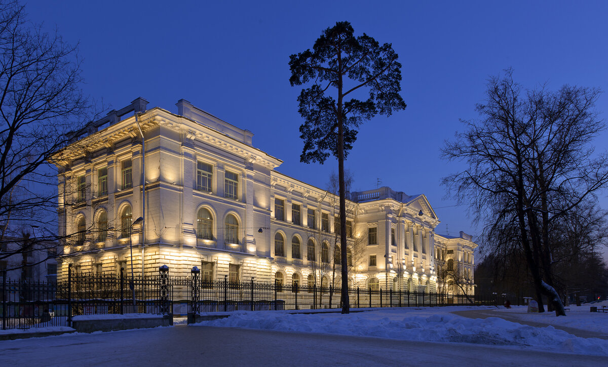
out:
{"label": "large bare tree with snow on its leaning trunk, right of building", "polygon": [[567,85],[524,91],[512,74],[488,81],[486,100],[476,107],[482,118],[463,122],[466,131],[446,142],[443,156],[468,168],[443,183],[470,203],[477,221],[489,223],[486,236],[516,228],[517,241],[503,244],[523,250],[539,310],[547,295],[556,314],[565,315],[554,289],[550,228],[608,183],[608,157],[590,146],[605,128],[593,110],[599,91]]}

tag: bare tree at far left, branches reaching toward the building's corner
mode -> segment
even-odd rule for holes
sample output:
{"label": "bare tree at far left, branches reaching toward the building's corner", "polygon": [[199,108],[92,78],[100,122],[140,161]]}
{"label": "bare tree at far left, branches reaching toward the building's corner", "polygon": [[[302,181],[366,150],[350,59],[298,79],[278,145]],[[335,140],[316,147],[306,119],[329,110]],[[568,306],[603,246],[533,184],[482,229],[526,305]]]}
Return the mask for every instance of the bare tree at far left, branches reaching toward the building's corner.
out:
{"label": "bare tree at far left, branches reaching toward the building's corner", "polygon": [[[26,19],[17,1],[0,1],[0,259],[57,245],[57,173],[52,157],[85,132],[91,104],[81,91],[77,47]],[[31,226],[38,226],[34,231]],[[73,235],[73,234],[71,234]],[[30,264],[26,264],[30,265]]]}

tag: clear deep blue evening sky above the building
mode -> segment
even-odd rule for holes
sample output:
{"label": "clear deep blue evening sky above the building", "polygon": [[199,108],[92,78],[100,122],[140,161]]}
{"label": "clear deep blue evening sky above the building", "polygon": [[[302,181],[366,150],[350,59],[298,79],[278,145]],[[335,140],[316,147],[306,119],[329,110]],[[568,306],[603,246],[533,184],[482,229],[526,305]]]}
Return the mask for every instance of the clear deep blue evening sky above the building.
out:
{"label": "clear deep blue evening sky above the building", "polygon": [[[24,1],[43,29],[79,44],[85,92],[111,109],[137,97],[177,112],[184,98],[254,133],[254,146],[283,160],[278,171],[320,188],[337,171],[300,163],[301,87],[289,84],[289,55],[313,46],[336,21],[355,34],[392,43],[402,64],[404,111],[359,129],[345,166],[353,190],[389,186],[423,193],[441,223],[437,233],[477,235],[446,197],[441,178],[464,168],[440,148],[477,118],[486,82],[513,67],[525,87],[563,84],[608,91],[605,1]],[[596,109],[608,113],[608,95]],[[608,134],[595,142],[608,149]],[[601,204],[608,207],[607,193]]]}

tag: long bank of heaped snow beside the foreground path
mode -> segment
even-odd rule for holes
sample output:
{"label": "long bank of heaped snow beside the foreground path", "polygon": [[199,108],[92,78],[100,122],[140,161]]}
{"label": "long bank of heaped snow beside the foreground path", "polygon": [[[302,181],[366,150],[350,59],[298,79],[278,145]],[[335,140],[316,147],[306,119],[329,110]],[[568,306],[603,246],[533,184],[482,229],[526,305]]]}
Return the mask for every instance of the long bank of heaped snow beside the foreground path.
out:
{"label": "long bank of heaped snow beside the foreground path", "polygon": [[[446,307],[452,308],[452,307]],[[288,314],[285,312],[232,312],[230,317],[197,325],[275,331],[380,337],[396,340],[440,341],[520,346],[587,355],[608,355],[608,340],[579,338],[548,326],[534,328],[489,317],[470,319],[446,312],[434,314],[412,309],[374,310],[340,314]]]}

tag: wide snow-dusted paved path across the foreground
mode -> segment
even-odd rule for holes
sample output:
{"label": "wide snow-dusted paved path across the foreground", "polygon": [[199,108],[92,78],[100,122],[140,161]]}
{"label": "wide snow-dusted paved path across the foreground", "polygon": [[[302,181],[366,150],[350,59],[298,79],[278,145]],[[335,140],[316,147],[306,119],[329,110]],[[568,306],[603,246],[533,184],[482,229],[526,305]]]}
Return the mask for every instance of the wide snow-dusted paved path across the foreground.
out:
{"label": "wide snow-dusted paved path across the foreground", "polygon": [[174,326],[0,341],[3,366],[600,366],[503,346]]}

